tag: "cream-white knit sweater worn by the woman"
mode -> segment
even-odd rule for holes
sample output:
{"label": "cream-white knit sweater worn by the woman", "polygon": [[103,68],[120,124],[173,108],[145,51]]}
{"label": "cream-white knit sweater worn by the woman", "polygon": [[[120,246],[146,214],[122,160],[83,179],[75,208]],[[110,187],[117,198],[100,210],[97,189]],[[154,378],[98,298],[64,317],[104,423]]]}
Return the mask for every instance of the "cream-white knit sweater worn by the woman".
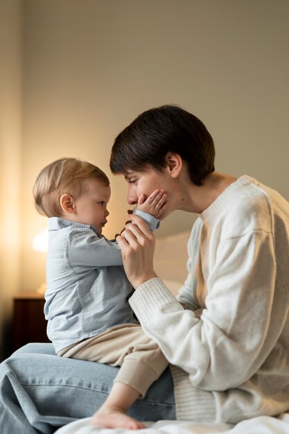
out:
{"label": "cream-white knit sweater worn by the woman", "polygon": [[240,177],[200,214],[178,300],[156,278],[130,298],[173,365],[177,419],[237,423],[289,409],[289,204]]}

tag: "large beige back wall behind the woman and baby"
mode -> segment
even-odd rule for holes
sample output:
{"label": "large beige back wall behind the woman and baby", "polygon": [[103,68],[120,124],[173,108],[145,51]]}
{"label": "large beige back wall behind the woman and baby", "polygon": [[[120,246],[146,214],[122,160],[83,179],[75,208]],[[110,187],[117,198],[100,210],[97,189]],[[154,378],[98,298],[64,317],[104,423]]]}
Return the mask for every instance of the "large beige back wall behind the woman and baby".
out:
{"label": "large beige back wall behind the woman and baby", "polygon": [[[24,0],[21,290],[44,280],[31,238],[37,172],[64,155],[110,173],[116,134],[149,107],[177,103],[204,121],[216,168],[248,173],[289,200],[287,0]],[[125,184],[111,176],[113,236]],[[176,213],[157,236],[188,229]]]}

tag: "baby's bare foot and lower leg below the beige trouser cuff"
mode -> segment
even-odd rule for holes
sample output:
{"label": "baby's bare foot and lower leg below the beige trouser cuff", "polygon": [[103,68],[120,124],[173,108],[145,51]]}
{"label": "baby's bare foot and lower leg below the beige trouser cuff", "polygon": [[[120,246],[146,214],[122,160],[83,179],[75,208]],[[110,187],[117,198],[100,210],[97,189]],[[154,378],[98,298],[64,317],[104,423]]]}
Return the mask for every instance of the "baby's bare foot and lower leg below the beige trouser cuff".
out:
{"label": "baby's bare foot and lower leg below the beige trouser cuff", "polygon": [[144,425],[126,412],[140,394],[130,385],[114,383],[109,397],[92,417],[92,424],[104,428],[141,429]]}

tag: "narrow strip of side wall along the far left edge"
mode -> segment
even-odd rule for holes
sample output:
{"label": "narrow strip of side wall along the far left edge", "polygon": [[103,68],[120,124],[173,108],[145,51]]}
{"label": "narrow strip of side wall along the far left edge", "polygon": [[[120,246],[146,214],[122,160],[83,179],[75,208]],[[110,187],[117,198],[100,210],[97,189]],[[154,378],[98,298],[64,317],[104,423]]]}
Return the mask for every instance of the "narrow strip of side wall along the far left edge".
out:
{"label": "narrow strip of side wall along the far left edge", "polygon": [[21,1],[0,2],[0,358],[19,290],[21,220]]}

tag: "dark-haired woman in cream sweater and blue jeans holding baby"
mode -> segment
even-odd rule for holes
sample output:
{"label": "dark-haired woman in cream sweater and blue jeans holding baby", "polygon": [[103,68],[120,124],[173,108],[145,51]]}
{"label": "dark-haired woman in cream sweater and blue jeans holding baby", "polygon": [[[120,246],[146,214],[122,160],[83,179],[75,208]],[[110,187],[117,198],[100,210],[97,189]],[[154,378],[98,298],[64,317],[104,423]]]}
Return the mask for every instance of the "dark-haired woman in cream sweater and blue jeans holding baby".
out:
{"label": "dark-haired woman in cream sweater and blue jeans holding baby", "polygon": [[[138,216],[117,237],[130,305],[172,363],[137,401],[139,420],[236,423],[289,408],[289,204],[251,177],[216,173],[211,135],[193,114],[157,107],[116,138],[110,166],[128,202],[165,189],[168,207],[199,215],[178,300],[153,270],[155,239]],[[49,353],[49,354],[45,354]],[[1,364],[4,434],[51,433],[105,399],[116,368],[30,345]],[[97,380],[96,380],[97,379]]]}

